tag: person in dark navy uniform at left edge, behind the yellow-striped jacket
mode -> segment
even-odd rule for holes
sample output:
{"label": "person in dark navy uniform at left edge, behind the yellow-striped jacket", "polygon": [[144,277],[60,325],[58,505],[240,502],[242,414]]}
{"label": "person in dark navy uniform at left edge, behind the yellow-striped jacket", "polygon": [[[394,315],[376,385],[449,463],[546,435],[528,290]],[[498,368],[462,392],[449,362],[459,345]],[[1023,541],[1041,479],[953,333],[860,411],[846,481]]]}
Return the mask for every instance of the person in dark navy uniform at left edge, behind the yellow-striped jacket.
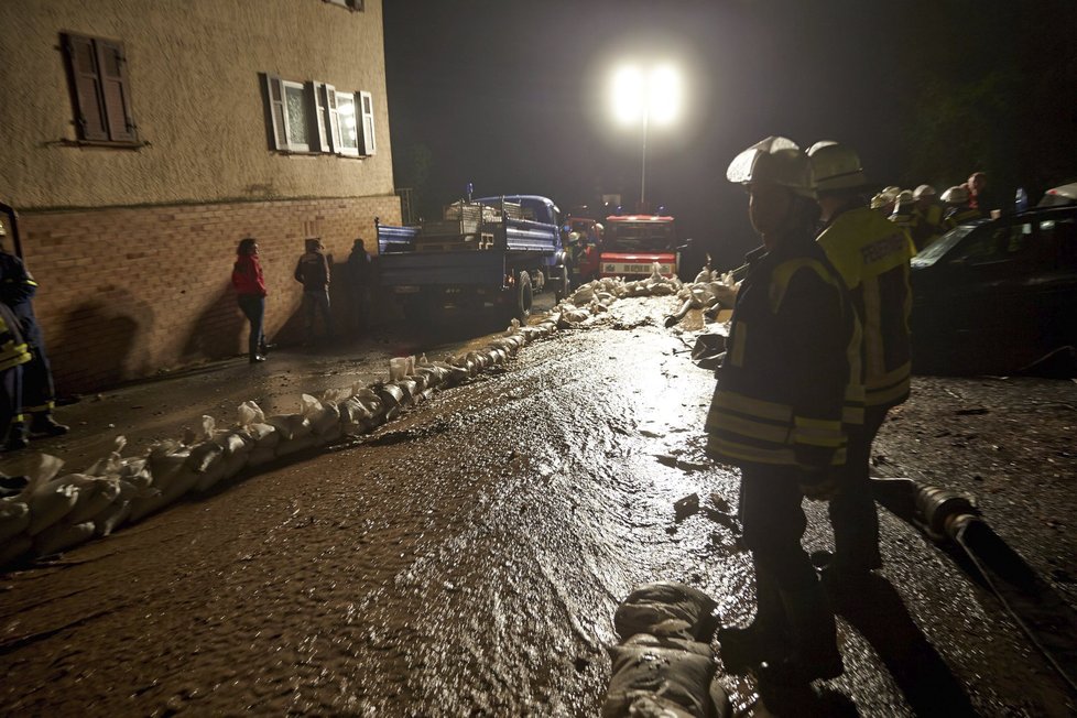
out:
{"label": "person in dark navy uniform at left edge, behind the yellow-striped jacket", "polygon": [[[22,337],[30,349],[30,361],[22,371],[22,411],[14,417],[8,434],[6,448],[18,450],[30,443],[31,433],[44,436],[62,436],[68,427],[53,418],[56,390],[53,385],[52,367],[45,352],[45,340],[37,317],[34,316],[34,294],[37,282],[22,260],[8,252],[7,231],[0,225],[0,302],[6,304],[19,320]],[[26,424],[26,418],[30,424]]]}

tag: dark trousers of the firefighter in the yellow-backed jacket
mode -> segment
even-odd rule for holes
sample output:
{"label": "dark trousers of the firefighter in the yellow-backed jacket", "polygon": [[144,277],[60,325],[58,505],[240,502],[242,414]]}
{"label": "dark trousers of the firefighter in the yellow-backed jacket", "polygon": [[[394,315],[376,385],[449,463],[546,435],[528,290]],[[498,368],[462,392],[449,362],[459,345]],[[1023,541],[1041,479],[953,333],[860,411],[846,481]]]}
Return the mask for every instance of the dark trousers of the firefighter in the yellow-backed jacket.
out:
{"label": "dark trousers of the firefighter in the yellow-backed jacket", "polygon": [[834,527],[834,563],[841,568],[869,569],[882,565],[879,555],[879,513],[871,496],[871,443],[889,407],[864,409],[863,426],[850,427],[846,464],[838,470],[839,490],[827,511]]}

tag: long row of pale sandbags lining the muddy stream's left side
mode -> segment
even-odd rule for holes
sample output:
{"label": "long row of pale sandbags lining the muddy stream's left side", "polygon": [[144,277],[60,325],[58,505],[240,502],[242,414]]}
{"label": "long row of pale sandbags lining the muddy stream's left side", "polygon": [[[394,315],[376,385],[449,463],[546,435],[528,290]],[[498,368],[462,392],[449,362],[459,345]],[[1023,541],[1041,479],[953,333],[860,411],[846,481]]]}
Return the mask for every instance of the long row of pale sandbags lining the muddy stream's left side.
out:
{"label": "long row of pale sandbags lining the muddy stream's left side", "polygon": [[487,347],[447,361],[407,362],[390,368],[391,380],[330,390],[320,399],[303,394],[294,414],[265,416],[243,402],[236,423],[219,428],[203,416],[197,429],[163,440],[139,456],[123,456],[126,439],[78,474],[63,474],[63,460],[42,456],[22,491],[0,499],[0,566],[55,554],[160,511],[188,492],[206,492],[240,471],[342,436],[360,436],[393,420],[436,389],[459,384],[504,363],[529,341],[555,331],[556,316],[520,327]]}

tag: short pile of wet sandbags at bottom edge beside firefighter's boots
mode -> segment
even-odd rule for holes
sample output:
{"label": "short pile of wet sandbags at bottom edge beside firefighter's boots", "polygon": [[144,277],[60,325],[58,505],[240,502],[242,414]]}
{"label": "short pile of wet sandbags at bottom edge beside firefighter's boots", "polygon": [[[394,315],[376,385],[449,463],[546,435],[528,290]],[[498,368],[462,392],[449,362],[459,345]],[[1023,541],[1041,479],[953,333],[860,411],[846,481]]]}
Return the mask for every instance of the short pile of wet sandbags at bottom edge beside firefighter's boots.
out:
{"label": "short pile of wet sandbags at bottom edge beside firefighter's boots", "polygon": [[618,607],[603,718],[726,718],[732,708],[715,675],[710,638],[717,603],[671,581],[648,584]]}

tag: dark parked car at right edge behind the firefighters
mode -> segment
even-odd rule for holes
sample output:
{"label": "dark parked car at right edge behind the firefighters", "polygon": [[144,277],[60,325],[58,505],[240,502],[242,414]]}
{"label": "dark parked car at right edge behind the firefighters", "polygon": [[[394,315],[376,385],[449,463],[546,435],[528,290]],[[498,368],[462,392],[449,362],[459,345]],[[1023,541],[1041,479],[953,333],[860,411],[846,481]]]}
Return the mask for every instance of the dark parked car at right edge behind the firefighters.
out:
{"label": "dark parked car at right edge behind the firefighters", "polygon": [[1012,373],[1077,346],[1077,206],[960,225],[912,283],[915,371]]}

